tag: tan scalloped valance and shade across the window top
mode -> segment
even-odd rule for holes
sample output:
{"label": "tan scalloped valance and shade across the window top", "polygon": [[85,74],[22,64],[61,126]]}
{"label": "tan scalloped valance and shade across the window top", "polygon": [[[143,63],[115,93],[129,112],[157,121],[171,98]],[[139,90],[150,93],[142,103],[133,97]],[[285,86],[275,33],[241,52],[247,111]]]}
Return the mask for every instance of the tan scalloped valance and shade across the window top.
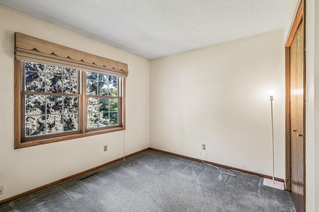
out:
{"label": "tan scalloped valance and shade across the window top", "polygon": [[84,71],[126,78],[128,65],[56,43],[31,37],[19,32],[14,34],[14,58],[20,61],[60,65]]}

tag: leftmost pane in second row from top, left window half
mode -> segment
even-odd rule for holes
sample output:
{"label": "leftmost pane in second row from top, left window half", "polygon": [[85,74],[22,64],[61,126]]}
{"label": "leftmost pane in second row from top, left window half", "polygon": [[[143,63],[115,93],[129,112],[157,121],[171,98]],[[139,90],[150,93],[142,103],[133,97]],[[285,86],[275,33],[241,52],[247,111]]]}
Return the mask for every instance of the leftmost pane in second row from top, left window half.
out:
{"label": "leftmost pane in second row from top, left window half", "polygon": [[44,92],[45,75],[37,72],[25,72],[25,91]]}

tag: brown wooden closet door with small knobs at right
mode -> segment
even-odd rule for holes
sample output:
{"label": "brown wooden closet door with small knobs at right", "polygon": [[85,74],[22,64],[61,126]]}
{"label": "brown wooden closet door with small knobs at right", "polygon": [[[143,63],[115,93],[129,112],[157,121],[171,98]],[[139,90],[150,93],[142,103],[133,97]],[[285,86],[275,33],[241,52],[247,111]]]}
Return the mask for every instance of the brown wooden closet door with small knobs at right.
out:
{"label": "brown wooden closet door with small knobs at right", "polygon": [[297,212],[305,205],[305,65],[304,23],[300,23],[290,47],[291,193]]}

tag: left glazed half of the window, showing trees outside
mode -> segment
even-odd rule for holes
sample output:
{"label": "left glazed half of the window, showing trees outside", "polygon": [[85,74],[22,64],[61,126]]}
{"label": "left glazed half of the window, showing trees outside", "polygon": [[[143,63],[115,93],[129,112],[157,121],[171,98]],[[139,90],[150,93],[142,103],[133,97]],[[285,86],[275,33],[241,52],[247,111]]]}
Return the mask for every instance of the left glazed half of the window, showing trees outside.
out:
{"label": "left glazed half of the window, showing trees outside", "polygon": [[78,130],[78,71],[25,62],[25,136]]}

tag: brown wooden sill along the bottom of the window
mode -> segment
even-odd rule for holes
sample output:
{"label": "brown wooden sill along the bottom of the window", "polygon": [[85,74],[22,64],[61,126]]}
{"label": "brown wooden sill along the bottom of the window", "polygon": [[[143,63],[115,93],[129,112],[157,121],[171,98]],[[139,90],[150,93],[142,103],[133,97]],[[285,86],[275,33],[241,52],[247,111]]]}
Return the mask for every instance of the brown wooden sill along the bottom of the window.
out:
{"label": "brown wooden sill along the bottom of the window", "polygon": [[36,146],[36,145],[47,144],[47,143],[54,143],[54,142],[58,142],[58,141],[71,140],[71,139],[75,139],[75,138],[82,138],[82,137],[99,135],[99,134],[104,134],[104,133],[109,133],[109,132],[116,132],[116,131],[121,131],[121,130],[124,130],[124,127],[116,127],[116,128],[97,130],[97,131],[91,131],[91,132],[86,132],[86,133],[65,135],[65,136],[54,137],[54,138],[45,138],[45,139],[40,139],[40,140],[35,140],[35,141],[19,142],[19,143],[14,145],[14,149],[19,149],[19,148],[24,148],[24,147],[29,147],[29,146]]}

